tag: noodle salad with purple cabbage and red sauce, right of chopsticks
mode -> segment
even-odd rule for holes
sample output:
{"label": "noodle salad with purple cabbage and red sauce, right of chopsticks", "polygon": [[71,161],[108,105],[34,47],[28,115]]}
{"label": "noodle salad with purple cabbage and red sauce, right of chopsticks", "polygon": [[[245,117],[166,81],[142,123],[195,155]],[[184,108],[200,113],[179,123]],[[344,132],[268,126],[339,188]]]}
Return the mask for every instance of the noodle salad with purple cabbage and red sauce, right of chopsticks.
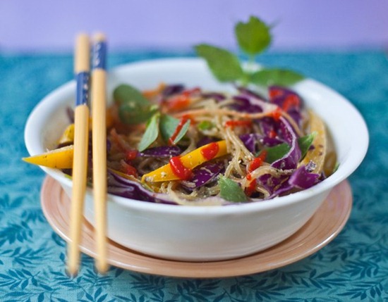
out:
{"label": "noodle salad with purple cabbage and red sauce, right of chopsticks", "polygon": [[[149,110],[133,120],[141,102]],[[112,194],[178,204],[267,200],[308,189],[334,169],[324,122],[285,87],[269,87],[264,97],[246,87],[226,94],[161,84],[137,92],[122,84],[109,114]]]}

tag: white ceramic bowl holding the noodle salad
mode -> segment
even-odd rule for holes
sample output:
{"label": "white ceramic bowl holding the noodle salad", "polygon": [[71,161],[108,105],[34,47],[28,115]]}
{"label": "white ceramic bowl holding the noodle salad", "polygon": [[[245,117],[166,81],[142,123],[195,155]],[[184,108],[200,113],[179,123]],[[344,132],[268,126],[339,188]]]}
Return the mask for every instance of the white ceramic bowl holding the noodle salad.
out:
{"label": "white ceramic bowl holding the noodle salad", "polygon": [[[109,72],[108,96],[118,84],[139,89],[160,82],[225,90],[197,58],[162,59],[132,63]],[[171,206],[108,196],[107,234],[135,251],[175,260],[225,260],[262,251],[290,237],[315,213],[329,191],[356,170],[368,149],[368,130],[361,115],[343,96],[314,80],[294,89],[308,107],[319,113],[332,132],[340,163],[337,172],[315,187],[271,201],[231,206]],[[55,147],[68,124],[75,81],[46,96],[32,111],[25,127],[30,155]],[[71,180],[59,170],[42,168],[71,196]],[[94,224],[92,191],[87,190],[85,218]]]}

